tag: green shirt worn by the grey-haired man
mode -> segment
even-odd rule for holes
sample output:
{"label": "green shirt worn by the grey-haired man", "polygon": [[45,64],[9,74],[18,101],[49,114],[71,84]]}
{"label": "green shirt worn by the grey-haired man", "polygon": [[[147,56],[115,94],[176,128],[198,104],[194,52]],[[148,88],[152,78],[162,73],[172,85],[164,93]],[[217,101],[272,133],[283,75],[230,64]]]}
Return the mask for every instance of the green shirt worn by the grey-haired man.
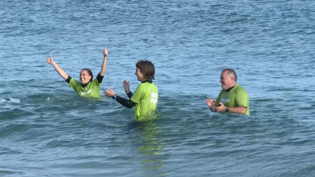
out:
{"label": "green shirt worn by the grey-haired man", "polygon": [[[246,90],[239,86],[235,85],[230,91],[226,92],[226,90],[221,90],[218,98],[215,100],[215,106],[220,106],[219,102],[223,103],[226,107],[238,107],[244,106],[246,107],[245,115],[249,115],[249,96]],[[228,113],[228,112],[221,112]]]}

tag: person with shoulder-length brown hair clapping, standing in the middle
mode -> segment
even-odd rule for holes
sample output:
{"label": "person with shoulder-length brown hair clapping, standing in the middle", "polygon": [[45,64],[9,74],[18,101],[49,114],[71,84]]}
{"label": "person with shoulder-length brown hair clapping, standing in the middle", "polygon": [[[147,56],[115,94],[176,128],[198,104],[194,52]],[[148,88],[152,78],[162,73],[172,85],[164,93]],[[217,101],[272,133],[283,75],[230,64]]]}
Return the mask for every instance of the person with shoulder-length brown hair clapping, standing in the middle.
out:
{"label": "person with shoulder-length brown hair clapping, standing in the middle", "polygon": [[134,108],[135,119],[142,119],[148,115],[149,112],[155,111],[157,107],[158,90],[157,86],[152,82],[154,80],[155,68],[151,61],[140,60],[136,64],[136,72],[138,85],[134,94],[129,90],[129,81],[123,81],[123,88],[129,97],[129,100],[117,95],[112,89],[109,91],[103,90],[107,97],[112,97],[123,106]]}

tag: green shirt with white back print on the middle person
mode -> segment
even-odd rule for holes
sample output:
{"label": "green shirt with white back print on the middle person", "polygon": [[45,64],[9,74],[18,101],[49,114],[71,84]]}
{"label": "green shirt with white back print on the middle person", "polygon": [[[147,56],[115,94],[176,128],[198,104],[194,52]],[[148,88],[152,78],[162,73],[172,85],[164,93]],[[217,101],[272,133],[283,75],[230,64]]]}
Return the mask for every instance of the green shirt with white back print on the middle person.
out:
{"label": "green shirt with white back print on the middle person", "polygon": [[157,107],[158,90],[154,83],[140,83],[135,93],[130,98],[137,103],[135,105],[135,119],[141,119],[148,112],[154,111]]}

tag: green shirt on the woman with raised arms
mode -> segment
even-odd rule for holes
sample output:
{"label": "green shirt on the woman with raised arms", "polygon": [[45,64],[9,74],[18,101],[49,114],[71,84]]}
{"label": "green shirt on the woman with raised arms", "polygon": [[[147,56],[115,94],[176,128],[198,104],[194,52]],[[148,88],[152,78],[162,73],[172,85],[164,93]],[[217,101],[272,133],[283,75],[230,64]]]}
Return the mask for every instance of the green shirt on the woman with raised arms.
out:
{"label": "green shirt on the woman with raised arms", "polygon": [[78,96],[100,98],[101,84],[102,83],[98,83],[97,79],[94,79],[86,87],[82,87],[82,84],[79,81],[71,78],[69,87],[73,88],[73,90],[77,92]]}

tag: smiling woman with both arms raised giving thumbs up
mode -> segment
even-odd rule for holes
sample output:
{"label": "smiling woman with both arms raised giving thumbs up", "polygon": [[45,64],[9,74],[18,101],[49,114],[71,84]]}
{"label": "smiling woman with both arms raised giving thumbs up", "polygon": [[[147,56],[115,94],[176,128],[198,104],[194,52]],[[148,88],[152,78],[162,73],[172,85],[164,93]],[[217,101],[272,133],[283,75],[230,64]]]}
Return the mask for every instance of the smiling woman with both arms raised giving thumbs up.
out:
{"label": "smiling woman with both arms raised giving thumbs up", "polygon": [[77,95],[100,98],[100,85],[102,84],[102,80],[106,71],[106,60],[108,55],[107,47],[105,47],[103,53],[104,59],[101,71],[94,80],[92,71],[84,68],[80,72],[80,82],[76,81],[72,77],[68,76],[68,74],[63,69],[61,69],[56,62],[54,62],[52,55],[50,55],[50,58],[47,58],[47,63],[54,66],[58,74],[63,79],[65,79],[67,83],[69,83],[69,86],[73,88],[73,90],[77,92]]}

